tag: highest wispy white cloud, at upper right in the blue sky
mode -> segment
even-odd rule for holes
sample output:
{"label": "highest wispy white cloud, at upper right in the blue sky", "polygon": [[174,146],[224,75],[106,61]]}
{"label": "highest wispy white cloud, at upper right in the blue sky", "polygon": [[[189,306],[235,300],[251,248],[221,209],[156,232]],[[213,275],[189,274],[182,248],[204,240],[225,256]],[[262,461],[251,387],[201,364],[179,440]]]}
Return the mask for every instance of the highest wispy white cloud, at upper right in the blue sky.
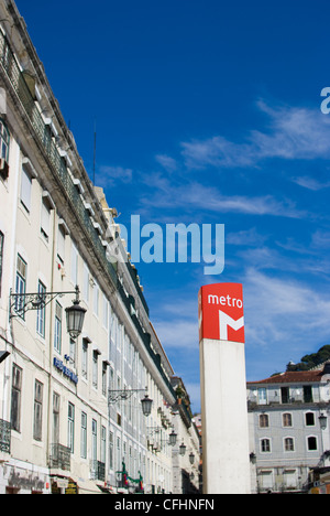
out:
{"label": "highest wispy white cloud, at upper right in the blue sky", "polygon": [[330,157],[330,120],[319,109],[271,108],[263,100],[257,107],[268,117],[267,130],[251,130],[240,143],[222,136],[184,142],[186,165],[190,169],[255,168],[270,158],[312,160]]}

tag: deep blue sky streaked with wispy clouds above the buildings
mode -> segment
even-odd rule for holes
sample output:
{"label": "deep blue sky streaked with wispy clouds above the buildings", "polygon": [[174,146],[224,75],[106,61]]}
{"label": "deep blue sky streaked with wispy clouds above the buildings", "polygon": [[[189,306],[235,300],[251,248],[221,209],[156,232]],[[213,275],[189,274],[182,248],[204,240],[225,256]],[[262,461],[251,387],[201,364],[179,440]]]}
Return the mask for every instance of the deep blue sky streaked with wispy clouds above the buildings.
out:
{"label": "deep blue sky streaked with wispy clouds above the buildings", "polygon": [[224,224],[220,276],[138,266],[194,409],[202,284],[243,283],[249,380],[329,344],[329,2],[16,4],[118,222]]}

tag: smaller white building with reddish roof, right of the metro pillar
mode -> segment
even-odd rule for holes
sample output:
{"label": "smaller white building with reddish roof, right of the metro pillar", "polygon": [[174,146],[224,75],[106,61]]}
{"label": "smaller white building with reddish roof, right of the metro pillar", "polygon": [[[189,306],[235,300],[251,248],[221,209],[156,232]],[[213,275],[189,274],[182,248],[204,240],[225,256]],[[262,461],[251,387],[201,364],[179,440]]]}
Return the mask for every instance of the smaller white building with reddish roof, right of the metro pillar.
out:
{"label": "smaller white building with reddish roof, right of the metro pillar", "polygon": [[329,401],[330,363],[248,383],[253,492],[306,492],[329,466]]}

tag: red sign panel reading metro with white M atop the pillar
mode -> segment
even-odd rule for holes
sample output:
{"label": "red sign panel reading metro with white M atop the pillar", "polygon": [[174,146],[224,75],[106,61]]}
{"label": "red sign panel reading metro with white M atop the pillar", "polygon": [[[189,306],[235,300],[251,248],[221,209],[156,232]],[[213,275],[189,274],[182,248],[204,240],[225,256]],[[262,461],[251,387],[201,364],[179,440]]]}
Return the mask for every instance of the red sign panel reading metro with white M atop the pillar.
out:
{"label": "red sign panel reading metro with white M atop the pillar", "polygon": [[244,344],[243,287],[216,283],[201,287],[198,294],[199,342],[202,338]]}

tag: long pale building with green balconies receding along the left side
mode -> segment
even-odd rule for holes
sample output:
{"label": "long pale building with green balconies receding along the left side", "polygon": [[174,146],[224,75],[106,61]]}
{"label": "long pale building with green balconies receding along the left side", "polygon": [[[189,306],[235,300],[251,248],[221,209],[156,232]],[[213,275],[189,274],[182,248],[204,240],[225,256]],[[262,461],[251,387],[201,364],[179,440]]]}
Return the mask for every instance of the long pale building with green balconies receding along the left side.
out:
{"label": "long pale building with green balconies receding along the left side", "polygon": [[[0,20],[0,493],[172,493],[173,449],[147,440],[150,427],[173,433],[174,372],[117,211],[88,178],[13,0]],[[76,286],[79,335],[66,323]],[[189,416],[184,426],[179,442]]]}

